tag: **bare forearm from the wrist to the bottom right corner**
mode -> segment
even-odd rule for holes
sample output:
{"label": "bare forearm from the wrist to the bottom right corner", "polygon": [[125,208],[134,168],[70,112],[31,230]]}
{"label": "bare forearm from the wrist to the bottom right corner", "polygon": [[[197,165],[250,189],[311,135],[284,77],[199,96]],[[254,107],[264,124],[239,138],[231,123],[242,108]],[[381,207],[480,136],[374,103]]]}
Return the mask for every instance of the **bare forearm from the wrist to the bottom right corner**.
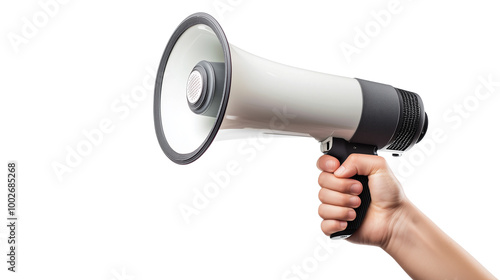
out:
{"label": "bare forearm from the wrist to the bottom right corner", "polygon": [[413,279],[495,279],[409,201],[391,228],[382,248]]}

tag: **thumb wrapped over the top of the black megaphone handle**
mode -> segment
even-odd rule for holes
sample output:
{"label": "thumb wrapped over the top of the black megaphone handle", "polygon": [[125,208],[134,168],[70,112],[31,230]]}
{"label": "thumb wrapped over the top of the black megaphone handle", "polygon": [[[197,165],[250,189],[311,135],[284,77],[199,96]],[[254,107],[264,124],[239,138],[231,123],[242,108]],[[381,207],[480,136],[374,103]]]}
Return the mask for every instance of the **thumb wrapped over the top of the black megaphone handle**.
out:
{"label": "thumb wrapped over the top of the black megaphone handle", "polygon": [[351,154],[334,174],[340,178],[350,178],[356,174],[369,176],[386,168],[387,162],[383,157]]}

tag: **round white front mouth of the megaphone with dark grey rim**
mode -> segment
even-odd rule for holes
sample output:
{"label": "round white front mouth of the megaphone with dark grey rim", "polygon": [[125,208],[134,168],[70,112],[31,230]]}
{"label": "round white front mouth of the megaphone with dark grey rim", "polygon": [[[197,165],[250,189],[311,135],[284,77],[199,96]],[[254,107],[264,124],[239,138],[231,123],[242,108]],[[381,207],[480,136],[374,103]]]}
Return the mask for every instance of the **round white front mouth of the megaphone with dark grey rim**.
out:
{"label": "round white front mouth of the megaphone with dark grey rim", "polygon": [[[193,72],[201,61],[217,63],[224,68],[223,77],[219,77],[223,81],[218,91],[220,98],[211,104],[215,112],[208,115],[196,114],[190,108],[203,98],[196,84],[200,77]],[[207,150],[224,118],[230,88],[231,55],[222,27],[208,14],[189,16],[170,38],[155,84],[156,136],[163,152],[172,161],[188,164]]]}

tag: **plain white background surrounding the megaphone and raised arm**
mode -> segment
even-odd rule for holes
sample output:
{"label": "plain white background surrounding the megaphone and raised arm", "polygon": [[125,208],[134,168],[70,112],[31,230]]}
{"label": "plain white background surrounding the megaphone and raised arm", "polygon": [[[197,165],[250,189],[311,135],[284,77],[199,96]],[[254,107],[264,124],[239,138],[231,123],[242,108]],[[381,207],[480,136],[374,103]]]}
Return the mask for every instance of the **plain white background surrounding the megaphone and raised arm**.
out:
{"label": "plain white background surrounding the megaphone and raised arm", "polygon": [[[217,142],[189,166],[162,153],[149,73],[177,25],[198,11],[256,55],[419,93],[430,119],[427,149],[389,159],[391,167],[424,213],[500,275],[500,86],[482,100],[474,96],[481,77],[500,81],[496,1],[400,0],[378,29],[374,14],[389,0],[69,0],[44,18],[40,3],[47,2],[0,5],[0,164],[6,174],[7,161],[16,160],[20,177],[18,273],[3,261],[2,218],[0,278],[408,278],[375,247],[342,241],[326,259],[315,258],[329,241],[317,215],[314,140]],[[27,21],[37,25],[24,36]],[[357,30],[367,27],[369,41],[358,42],[348,60],[341,45],[356,47]],[[16,35],[24,38],[19,45]],[[144,81],[145,94],[125,105],[122,98],[139,96]],[[454,111],[464,103],[466,115]],[[66,164],[68,149],[102,121],[112,131],[58,179],[54,164]],[[192,205],[213,182],[210,173],[230,162],[239,174],[188,224],[179,207]],[[293,275],[294,266],[307,271]]]}

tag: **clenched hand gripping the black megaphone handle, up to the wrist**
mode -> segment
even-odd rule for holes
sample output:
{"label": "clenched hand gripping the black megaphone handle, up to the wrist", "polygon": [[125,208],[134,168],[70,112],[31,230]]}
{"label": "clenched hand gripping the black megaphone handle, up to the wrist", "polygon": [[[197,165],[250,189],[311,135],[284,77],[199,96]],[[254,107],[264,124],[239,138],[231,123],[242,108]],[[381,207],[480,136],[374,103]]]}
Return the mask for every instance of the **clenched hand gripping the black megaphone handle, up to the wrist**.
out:
{"label": "clenched hand gripping the black megaphone handle, up to the wrist", "polygon": [[[354,208],[361,204],[363,189],[359,181],[349,179],[359,174],[368,176],[372,202],[361,227],[349,241],[360,244],[385,246],[401,215],[406,197],[400,183],[388,168],[384,158],[373,155],[352,154],[340,166],[339,161],[324,155],[317,162],[323,172],[319,175],[319,215],[321,229],[326,235],[344,230],[346,221],[356,217]],[[334,173],[335,172],[335,173]]]}

